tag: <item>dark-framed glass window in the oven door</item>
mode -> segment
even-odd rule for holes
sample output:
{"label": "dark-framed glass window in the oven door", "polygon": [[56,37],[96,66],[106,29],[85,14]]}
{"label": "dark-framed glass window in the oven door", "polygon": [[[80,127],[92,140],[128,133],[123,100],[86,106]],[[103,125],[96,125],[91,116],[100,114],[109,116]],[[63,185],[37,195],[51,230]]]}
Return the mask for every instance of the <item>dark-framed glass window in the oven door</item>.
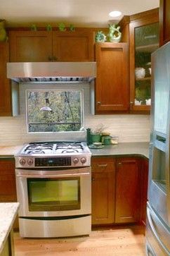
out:
{"label": "dark-framed glass window in the oven door", "polygon": [[80,209],[80,178],[27,178],[29,210]]}

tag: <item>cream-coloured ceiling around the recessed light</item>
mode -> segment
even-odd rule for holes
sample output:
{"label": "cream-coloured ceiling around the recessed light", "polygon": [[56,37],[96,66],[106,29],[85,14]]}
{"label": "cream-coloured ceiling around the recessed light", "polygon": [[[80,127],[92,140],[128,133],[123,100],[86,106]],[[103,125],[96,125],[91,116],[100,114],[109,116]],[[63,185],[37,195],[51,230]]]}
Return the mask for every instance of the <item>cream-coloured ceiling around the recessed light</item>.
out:
{"label": "cream-coloured ceiling around the recessed light", "polygon": [[[7,27],[32,24],[57,27],[58,23],[76,27],[103,28],[124,15],[132,15],[159,7],[159,0],[1,0],[0,18]],[[110,18],[110,11],[122,11]]]}

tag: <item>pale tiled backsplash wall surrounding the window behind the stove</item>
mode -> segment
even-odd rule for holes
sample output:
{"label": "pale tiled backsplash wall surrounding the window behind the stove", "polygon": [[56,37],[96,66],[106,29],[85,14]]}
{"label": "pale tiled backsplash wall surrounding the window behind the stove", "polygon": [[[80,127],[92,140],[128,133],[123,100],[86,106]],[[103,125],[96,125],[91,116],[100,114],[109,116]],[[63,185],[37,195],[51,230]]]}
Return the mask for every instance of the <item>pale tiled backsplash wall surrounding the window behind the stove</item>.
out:
{"label": "pale tiled backsplash wall surrounding the window behind the stove", "polygon": [[[25,90],[31,87],[39,88],[40,85],[20,84],[20,116],[0,117],[0,145],[20,145],[25,142],[39,140],[85,140],[85,132],[77,133],[41,133],[29,134],[26,130],[25,117]],[[70,85],[48,85],[53,87],[69,87]],[[95,128],[103,123],[105,131],[119,136],[119,142],[145,142],[150,136],[150,116],[148,115],[96,115],[90,114],[90,86],[89,84],[72,85],[84,89],[84,127]],[[41,88],[47,88],[42,85]]]}

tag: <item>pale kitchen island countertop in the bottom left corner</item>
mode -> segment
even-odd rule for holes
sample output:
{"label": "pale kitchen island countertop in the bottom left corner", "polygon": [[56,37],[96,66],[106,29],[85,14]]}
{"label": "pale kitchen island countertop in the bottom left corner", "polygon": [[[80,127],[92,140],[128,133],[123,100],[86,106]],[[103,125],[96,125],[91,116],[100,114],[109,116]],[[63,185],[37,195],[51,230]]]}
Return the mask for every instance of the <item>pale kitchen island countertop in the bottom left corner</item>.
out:
{"label": "pale kitchen island countertop in the bottom left corner", "polygon": [[13,222],[18,213],[18,202],[1,202],[0,203],[0,253],[4,248]]}

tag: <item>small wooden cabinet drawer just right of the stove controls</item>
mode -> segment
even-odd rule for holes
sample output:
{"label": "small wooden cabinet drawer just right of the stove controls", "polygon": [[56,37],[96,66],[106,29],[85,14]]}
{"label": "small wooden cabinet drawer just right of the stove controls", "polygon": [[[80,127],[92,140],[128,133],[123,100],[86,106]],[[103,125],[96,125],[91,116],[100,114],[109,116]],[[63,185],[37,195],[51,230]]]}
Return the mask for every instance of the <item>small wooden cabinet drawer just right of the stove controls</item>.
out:
{"label": "small wooden cabinet drawer just right of the stove controls", "polygon": [[96,157],[91,159],[91,171],[103,172],[103,171],[115,171],[115,159],[107,157]]}

